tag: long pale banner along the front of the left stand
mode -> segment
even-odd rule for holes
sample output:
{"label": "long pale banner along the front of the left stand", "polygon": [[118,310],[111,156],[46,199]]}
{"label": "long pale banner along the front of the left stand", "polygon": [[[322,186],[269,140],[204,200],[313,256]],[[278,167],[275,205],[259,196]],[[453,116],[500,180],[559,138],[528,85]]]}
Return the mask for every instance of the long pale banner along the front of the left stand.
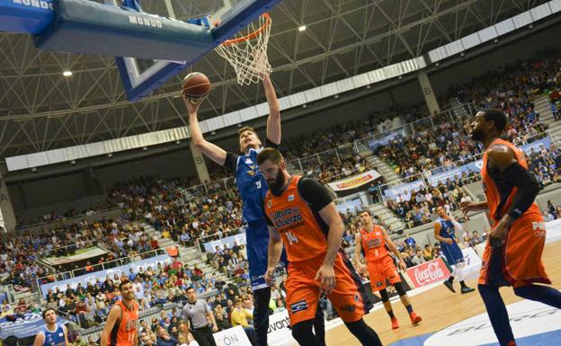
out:
{"label": "long pale banner along the front of the left stand", "polygon": [[86,287],[88,282],[92,282],[92,284],[95,284],[98,279],[100,281],[104,281],[107,276],[112,279],[115,274],[120,275],[122,272],[125,272],[128,275],[131,268],[133,271],[138,272],[141,267],[144,270],[147,270],[148,267],[155,269],[158,263],[162,263],[162,265],[165,265],[171,262],[172,260],[167,254],[161,254],[159,256],[151,257],[146,260],[132,262],[115,268],[107,268],[104,271],[94,271],[93,273],[80,275],[72,279],[64,279],[57,282],[42,284],[40,285],[40,290],[41,294],[44,297],[47,296],[49,288],[52,288],[53,291],[55,291],[57,288],[60,288],[60,291],[66,292],[67,284],[70,284],[70,288],[72,289],[76,289],[79,283],[81,283],[83,287]]}

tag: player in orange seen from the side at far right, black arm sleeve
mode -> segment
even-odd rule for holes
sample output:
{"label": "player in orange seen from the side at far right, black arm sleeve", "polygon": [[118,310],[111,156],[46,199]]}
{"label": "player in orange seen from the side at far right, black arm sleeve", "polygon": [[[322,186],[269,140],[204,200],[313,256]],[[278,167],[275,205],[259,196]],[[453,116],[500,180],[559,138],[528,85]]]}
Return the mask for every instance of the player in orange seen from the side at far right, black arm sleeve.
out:
{"label": "player in orange seen from the side at far right, black arm sleeve", "polygon": [[515,346],[499,288],[512,286],[519,297],[557,308],[561,308],[561,293],[555,288],[535,285],[551,283],[541,262],[546,228],[534,201],[539,183],[528,170],[522,151],[501,139],[506,124],[506,114],[501,110],[477,112],[471,124],[471,137],[485,146],[481,177],[486,201],[464,201],[461,208],[464,212],[488,209],[494,220],[478,288],[500,345]]}

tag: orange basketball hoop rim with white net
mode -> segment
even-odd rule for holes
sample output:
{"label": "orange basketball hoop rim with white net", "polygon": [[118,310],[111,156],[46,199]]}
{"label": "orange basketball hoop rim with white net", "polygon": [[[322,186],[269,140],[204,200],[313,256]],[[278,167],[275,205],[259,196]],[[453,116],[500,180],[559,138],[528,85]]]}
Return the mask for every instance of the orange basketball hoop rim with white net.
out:
{"label": "orange basketball hoop rim with white net", "polygon": [[265,75],[271,74],[267,58],[271,22],[269,13],[263,13],[257,24],[248,26],[247,34],[237,33],[234,39],[225,40],[216,48],[220,57],[234,67],[238,84],[258,83]]}

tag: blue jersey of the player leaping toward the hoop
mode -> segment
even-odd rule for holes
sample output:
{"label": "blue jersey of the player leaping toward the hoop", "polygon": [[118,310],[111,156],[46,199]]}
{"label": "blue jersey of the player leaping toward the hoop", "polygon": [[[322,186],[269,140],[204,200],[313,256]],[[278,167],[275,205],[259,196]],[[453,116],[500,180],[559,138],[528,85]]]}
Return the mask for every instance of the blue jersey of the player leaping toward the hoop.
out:
{"label": "blue jersey of the player leaping toward the hoop", "polygon": [[236,184],[237,190],[244,201],[242,215],[248,224],[261,220],[263,220],[263,223],[265,222],[263,199],[269,191],[269,187],[257,167],[257,155],[261,150],[261,148],[257,150],[252,148],[249,149],[247,154],[237,157]]}

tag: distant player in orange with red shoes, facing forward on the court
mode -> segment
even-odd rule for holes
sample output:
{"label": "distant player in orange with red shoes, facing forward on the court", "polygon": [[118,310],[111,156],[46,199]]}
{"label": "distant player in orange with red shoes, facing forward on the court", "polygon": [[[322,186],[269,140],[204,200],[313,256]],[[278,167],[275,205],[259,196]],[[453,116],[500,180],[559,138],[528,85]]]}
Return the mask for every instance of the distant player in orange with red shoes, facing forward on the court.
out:
{"label": "distant player in orange with red shoes, facing forward on the court", "polygon": [[[409,313],[411,323],[414,325],[419,324],[422,318],[414,313],[409,297],[401,284],[401,278],[396,270],[394,260],[387,252],[387,248],[389,248],[399,260],[399,267],[405,271],[407,266],[401,257],[401,253],[397,250],[396,244],[389,238],[384,227],[374,225],[368,210],[361,211],[359,217],[361,217],[362,228],[361,231],[356,234],[354,248],[354,259],[357,270],[364,274],[368,273],[370,277],[370,288],[372,288],[372,292],[379,292],[380,297],[382,297],[382,303],[384,307],[386,307],[387,315],[389,315],[389,319],[391,320],[392,329],[399,328],[399,323],[397,322],[397,318],[391,307],[391,302],[389,301],[389,296],[387,295],[386,281],[389,281],[389,283],[396,288],[401,303],[403,303]],[[364,255],[366,265],[361,262],[361,253]]]}

